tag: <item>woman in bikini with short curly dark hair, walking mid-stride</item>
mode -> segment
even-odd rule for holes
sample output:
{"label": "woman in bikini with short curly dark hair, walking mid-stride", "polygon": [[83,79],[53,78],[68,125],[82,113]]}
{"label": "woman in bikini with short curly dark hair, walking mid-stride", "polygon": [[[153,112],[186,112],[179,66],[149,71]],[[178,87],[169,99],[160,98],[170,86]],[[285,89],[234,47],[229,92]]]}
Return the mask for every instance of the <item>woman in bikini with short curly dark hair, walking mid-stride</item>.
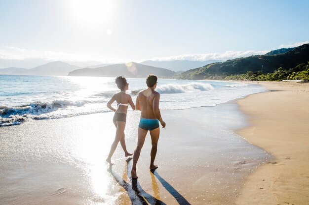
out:
{"label": "woman in bikini with short curly dark hair, walking mid-stride", "polygon": [[[122,76],[118,76],[115,80],[115,83],[117,84],[117,87],[120,89],[120,92],[114,94],[112,99],[107,103],[107,107],[115,112],[113,122],[116,126],[115,140],[112,144],[110,154],[106,159],[106,161],[110,164],[112,164],[111,158],[116,150],[119,141],[124,151],[124,156],[127,157],[132,155],[126,150],[124,141],[124,128],[125,128],[128,106],[130,105],[132,109],[135,110],[135,105],[132,101],[131,95],[125,93],[125,91],[129,89],[129,84],[126,82],[126,79]],[[117,102],[117,109],[112,107],[112,103],[115,100]]]}

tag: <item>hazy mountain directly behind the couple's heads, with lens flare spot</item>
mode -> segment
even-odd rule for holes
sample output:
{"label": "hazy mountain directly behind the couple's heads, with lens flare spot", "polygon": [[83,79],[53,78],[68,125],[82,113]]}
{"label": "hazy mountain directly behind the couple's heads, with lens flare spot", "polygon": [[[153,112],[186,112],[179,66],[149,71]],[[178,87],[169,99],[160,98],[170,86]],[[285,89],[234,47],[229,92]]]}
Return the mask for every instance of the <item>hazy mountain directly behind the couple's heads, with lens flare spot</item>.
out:
{"label": "hazy mountain directly behind the couple's heads, with lens flare spot", "polygon": [[97,77],[116,77],[122,75],[126,78],[145,78],[149,74],[154,74],[159,78],[171,78],[175,72],[136,62],[107,65],[99,68],[81,68],[69,73],[68,76],[97,76]]}

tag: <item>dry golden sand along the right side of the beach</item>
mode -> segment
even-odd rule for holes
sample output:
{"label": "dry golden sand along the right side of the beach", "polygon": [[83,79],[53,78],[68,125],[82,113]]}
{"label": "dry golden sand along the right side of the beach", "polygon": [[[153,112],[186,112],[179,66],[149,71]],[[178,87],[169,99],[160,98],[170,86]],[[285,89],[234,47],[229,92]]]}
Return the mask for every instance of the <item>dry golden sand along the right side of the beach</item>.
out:
{"label": "dry golden sand along the right side of the beach", "polygon": [[269,151],[276,160],[247,178],[237,204],[308,205],[309,84],[260,84],[271,92],[237,101],[251,123],[237,134]]}

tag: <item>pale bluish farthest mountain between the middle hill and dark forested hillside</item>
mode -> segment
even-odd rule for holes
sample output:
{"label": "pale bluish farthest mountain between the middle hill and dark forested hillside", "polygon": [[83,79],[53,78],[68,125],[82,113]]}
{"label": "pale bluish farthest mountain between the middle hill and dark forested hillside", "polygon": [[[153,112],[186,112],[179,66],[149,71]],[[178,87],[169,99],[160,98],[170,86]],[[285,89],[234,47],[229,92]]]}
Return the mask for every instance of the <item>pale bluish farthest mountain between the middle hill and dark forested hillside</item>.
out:
{"label": "pale bluish farthest mountain between the middle hill and dark forested hillside", "polygon": [[146,60],[141,62],[144,65],[150,65],[159,68],[166,68],[172,71],[185,71],[193,68],[199,68],[213,62],[222,62],[223,60],[206,60],[206,61],[191,61],[191,60],[172,60],[172,61],[154,61]]}

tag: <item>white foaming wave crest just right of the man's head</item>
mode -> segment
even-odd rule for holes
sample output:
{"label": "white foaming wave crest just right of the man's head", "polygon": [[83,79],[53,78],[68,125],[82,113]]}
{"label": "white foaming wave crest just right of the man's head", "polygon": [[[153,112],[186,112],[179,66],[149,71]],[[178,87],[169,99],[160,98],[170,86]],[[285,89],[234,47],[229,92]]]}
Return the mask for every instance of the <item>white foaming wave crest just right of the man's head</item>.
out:
{"label": "white foaming wave crest just right of the man's head", "polygon": [[191,91],[205,91],[214,89],[210,84],[204,83],[190,83],[186,85],[179,85],[179,84],[167,84],[164,86],[159,86],[155,88],[155,90],[161,94],[168,94],[168,93],[184,93],[184,92],[191,92]]}

